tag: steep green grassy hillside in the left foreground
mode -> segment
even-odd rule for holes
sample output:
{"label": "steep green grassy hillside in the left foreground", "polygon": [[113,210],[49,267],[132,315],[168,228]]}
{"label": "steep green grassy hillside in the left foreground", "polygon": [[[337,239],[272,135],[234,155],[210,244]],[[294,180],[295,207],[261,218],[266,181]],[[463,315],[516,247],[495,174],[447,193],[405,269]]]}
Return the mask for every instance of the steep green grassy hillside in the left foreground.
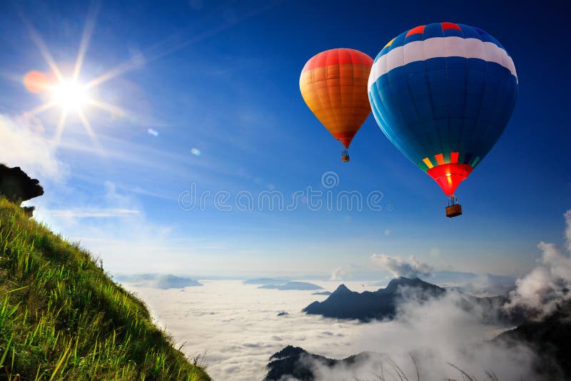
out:
{"label": "steep green grassy hillside in the left foreground", "polygon": [[0,380],[62,379],[210,380],[86,250],[0,198]]}

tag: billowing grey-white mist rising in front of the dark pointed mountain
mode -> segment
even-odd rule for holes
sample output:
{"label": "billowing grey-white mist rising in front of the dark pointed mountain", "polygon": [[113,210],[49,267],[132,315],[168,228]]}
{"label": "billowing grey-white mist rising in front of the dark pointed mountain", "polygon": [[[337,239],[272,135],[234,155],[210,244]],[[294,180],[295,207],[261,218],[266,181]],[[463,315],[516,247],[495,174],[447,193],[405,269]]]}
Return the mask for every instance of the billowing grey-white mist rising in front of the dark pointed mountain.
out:
{"label": "billowing grey-white mist rising in front of the dark pointed mountain", "polygon": [[391,362],[400,367],[409,380],[416,380],[415,357],[420,380],[459,380],[462,375],[453,364],[473,375],[476,380],[489,379],[491,370],[499,380],[535,380],[532,369],[535,354],[527,347],[505,347],[490,342],[498,327],[482,323],[482,309],[467,311],[459,307],[458,294],[418,303],[409,300],[400,305],[398,316],[390,322],[373,322],[359,330],[350,347],[353,353],[363,350],[382,353],[370,357],[357,367],[323,367],[314,363],[318,381],[376,380],[383,365],[387,380],[403,380],[395,374]]}

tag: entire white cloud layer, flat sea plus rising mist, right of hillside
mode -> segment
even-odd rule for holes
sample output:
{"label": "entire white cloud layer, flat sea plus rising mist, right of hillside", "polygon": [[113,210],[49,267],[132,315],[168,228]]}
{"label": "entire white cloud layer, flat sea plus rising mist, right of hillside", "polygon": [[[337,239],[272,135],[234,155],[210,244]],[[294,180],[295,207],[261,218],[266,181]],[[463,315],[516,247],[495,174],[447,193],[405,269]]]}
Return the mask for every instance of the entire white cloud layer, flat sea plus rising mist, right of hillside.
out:
{"label": "entire white cloud layer, flat sea plus rising mist, right of hillside", "polygon": [[[344,358],[363,350],[390,355],[410,380],[416,380],[409,353],[418,360],[421,380],[461,379],[447,362],[485,380],[485,370],[500,380],[530,380],[533,354],[525,347],[507,350],[490,343],[505,329],[481,322],[483,311],[458,307],[458,295],[442,300],[405,303],[397,320],[361,323],[305,315],[301,309],[325,296],[310,291],[261,290],[239,280],[200,280],[202,287],[156,290],[129,286],[148,303],[176,342],[186,345],[188,356],[206,352],[213,380],[262,380],[270,355],[285,345],[330,358]],[[338,283],[312,281],[325,290]],[[360,290],[361,283],[345,282]],[[368,290],[374,290],[374,286]],[[288,315],[277,316],[281,311]],[[385,368],[387,364],[385,363]],[[359,369],[319,370],[319,381],[375,380],[378,364],[365,362]],[[412,376],[412,377],[411,377]],[[388,378],[388,380],[391,380]]]}

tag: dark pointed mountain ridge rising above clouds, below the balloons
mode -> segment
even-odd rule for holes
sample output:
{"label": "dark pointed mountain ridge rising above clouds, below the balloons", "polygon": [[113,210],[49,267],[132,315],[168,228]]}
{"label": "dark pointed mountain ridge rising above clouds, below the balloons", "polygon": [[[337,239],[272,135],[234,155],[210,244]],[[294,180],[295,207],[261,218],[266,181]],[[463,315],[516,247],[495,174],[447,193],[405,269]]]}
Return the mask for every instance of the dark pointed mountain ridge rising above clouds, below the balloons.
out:
{"label": "dark pointed mountain ridge rising above clouds, below the balloons", "polygon": [[403,290],[414,290],[415,298],[427,299],[439,297],[446,293],[444,288],[426,283],[418,278],[395,278],[386,288],[377,291],[356,293],[345,285],[340,285],[329,298],[323,302],[313,302],[303,312],[338,319],[392,319],[396,312],[396,303]]}

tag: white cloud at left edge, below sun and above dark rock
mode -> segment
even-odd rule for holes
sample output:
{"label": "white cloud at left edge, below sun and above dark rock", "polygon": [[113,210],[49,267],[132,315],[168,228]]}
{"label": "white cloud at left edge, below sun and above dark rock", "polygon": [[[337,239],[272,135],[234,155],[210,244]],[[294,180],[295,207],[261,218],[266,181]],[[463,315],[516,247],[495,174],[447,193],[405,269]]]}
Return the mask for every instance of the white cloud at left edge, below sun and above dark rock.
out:
{"label": "white cloud at left edge, below sun and above dark rock", "polygon": [[35,118],[11,118],[0,114],[0,163],[21,167],[41,183],[59,181],[66,168],[56,158],[56,149],[44,136],[44,127]]}

